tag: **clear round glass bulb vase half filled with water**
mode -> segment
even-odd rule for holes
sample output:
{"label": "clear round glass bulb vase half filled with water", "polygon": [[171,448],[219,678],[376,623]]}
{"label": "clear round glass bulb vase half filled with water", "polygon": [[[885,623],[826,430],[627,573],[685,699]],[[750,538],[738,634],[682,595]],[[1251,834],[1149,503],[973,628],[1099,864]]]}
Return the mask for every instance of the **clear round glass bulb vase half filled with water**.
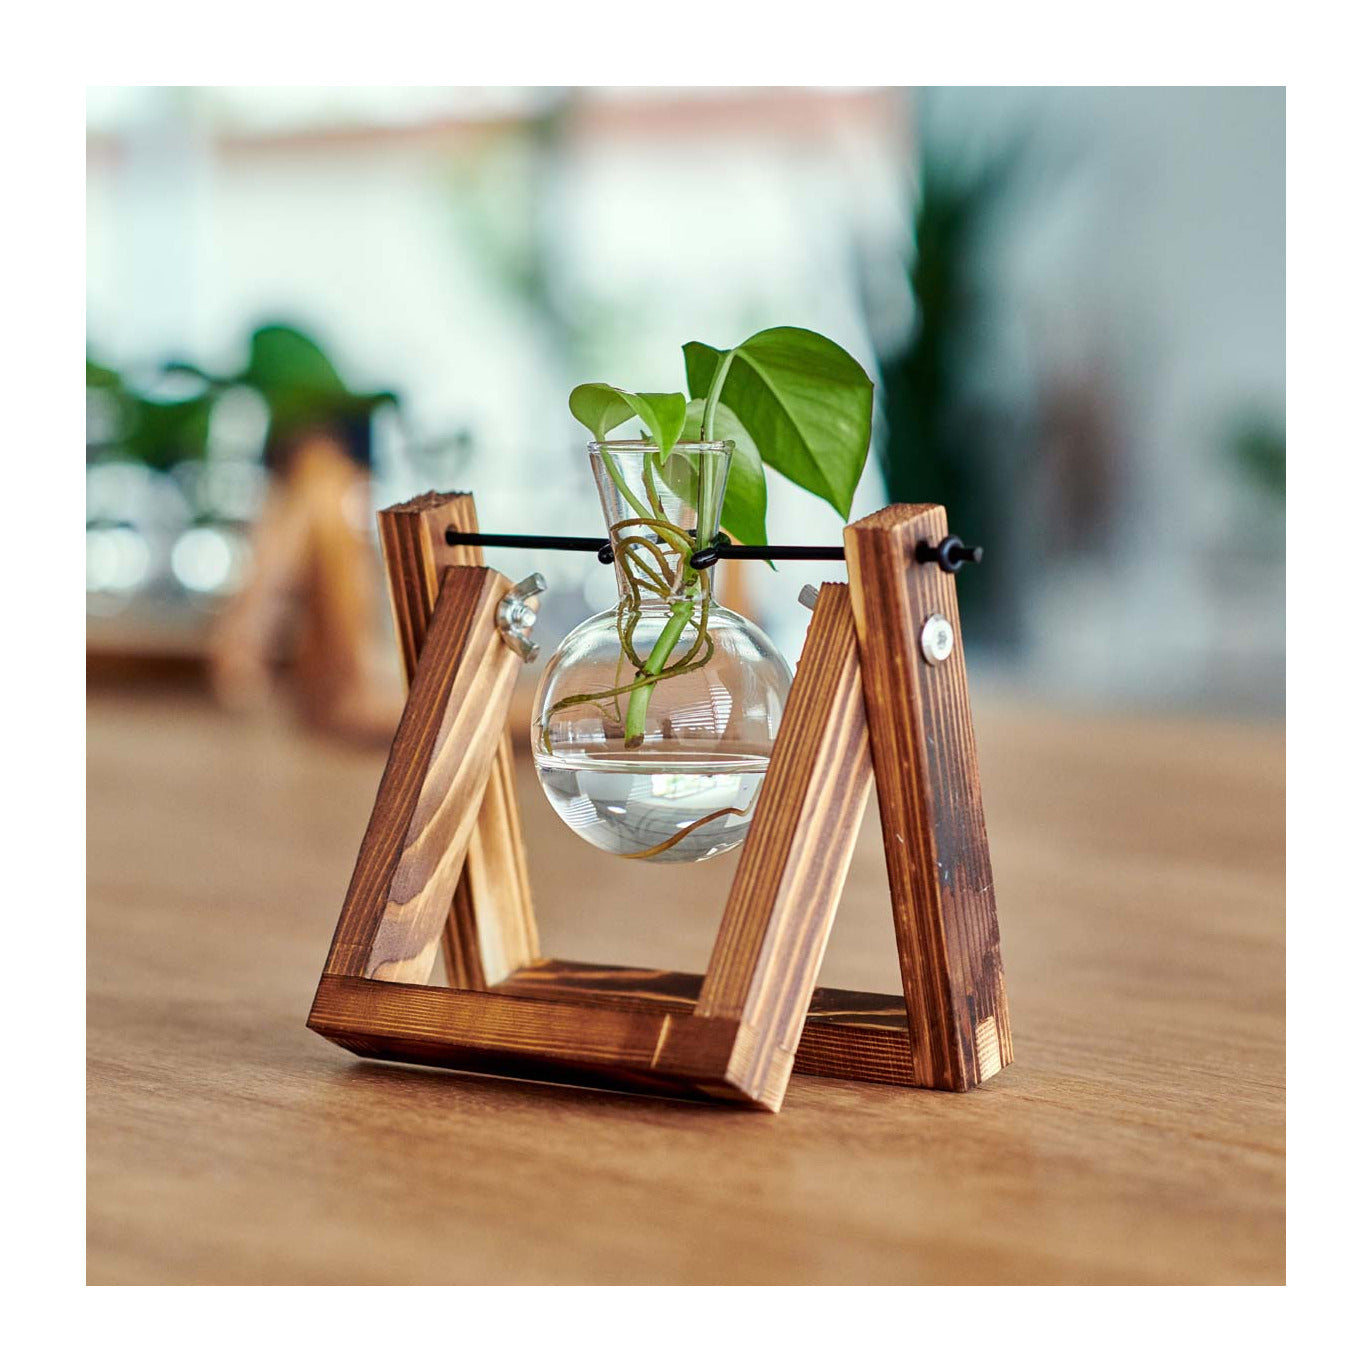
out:
{"label": "clear round glass bulb vase half filled with water", "polygon": [[719,534],[733,443],[591,443],[619,604],[563,639],[534,704],[543,793],[620,858],[701,862],[752,823],[790,668],[715,598],[691,553]]}

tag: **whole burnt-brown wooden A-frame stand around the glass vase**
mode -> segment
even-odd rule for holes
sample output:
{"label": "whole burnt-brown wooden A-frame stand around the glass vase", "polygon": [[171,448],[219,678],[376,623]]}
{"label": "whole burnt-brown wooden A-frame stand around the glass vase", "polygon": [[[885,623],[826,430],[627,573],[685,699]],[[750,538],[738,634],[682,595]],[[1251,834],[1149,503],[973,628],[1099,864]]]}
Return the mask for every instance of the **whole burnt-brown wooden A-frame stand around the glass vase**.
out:
{"label": "whole burnt-brown wooden A-frame stand around the glass vase", "polygon": [[[792,1070],[966,1091],[1010,1062],[1000,933],[938,505],[845,531],[814,609],[704,977],[541,958],[506,713],[510,583],[449,528],[380,514],[410,697],[309,1025],[366,1058],[781,1109]],[[921,652],[933,615],[943,661]],[[815,989],[873,777],[904,996]],[[442,947],[450,985],[427,985]]]}

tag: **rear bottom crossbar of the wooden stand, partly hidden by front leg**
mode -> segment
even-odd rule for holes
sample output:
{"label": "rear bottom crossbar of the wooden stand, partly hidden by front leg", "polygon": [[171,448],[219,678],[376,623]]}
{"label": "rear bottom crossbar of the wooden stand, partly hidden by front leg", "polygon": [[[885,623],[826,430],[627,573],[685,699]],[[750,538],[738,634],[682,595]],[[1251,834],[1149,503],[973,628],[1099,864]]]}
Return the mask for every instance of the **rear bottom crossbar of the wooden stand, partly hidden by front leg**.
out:
{"label": "rear bottom crossbar of the wooden stand, partly hidden by front leg", "polygon": [[[536,996],[583,1006],[632,1006],[690,1014],[700,1000],[700,973],[659,971],[541,958],[495,988],[508,996]],[[910,1085],[914,1066],[903,996],[820,986],[796,1048],[796,1072],[851,1081]]]}

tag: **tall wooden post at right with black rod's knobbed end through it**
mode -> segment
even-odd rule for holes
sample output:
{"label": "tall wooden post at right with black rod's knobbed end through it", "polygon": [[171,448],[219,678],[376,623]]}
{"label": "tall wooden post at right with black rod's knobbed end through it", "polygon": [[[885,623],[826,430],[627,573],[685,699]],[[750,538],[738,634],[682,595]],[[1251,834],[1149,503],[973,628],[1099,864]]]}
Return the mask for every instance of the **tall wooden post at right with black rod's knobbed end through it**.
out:
{"label": "tall wooden post at right with black rod's knobbed end through it", "polygon": [[[941,505],[890,505],[844,543],[915,1084],[966,1091],[1013,1052],[955,578],[915,560],[947,532]],[[930,664],[934,613],[956,646]]]}

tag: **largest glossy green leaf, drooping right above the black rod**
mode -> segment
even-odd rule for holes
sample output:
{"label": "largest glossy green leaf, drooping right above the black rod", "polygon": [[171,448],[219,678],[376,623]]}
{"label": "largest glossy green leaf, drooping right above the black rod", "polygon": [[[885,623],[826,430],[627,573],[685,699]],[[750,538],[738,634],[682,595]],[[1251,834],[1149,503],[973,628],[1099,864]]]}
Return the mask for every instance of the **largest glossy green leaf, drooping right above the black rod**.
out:
{"label": "largest glossy green leaf, drooping right above the black rod", "polygon": [[690,394],[708,397],[727,365],[719,399],[761,460],[848,519],[871,445],[873,384],[862,366],[837,343],[796,328],[763,329],[731,353],[707,343],[682,351]]}

